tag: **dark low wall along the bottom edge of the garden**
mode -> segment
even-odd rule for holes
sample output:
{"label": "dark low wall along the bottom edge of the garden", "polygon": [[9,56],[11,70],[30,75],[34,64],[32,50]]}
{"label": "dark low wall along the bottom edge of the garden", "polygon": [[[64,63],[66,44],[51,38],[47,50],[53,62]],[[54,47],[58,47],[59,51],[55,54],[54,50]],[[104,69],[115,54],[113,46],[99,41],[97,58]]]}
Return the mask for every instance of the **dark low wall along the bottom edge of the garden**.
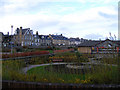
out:
{"label": "dark low wall along the bottom edge of the garden", "polygon": [[118,89],[120,88],[120,85],[91,85],[91,84],[60,84],[60,83],[37,83],[37,82],[16,82],[16,81],[8,81],[3,80],[2,81],[2,89],[8,89],[8,88],[65,88],[65,89],[84,89],[84,90],[110,90],[110,89]]}

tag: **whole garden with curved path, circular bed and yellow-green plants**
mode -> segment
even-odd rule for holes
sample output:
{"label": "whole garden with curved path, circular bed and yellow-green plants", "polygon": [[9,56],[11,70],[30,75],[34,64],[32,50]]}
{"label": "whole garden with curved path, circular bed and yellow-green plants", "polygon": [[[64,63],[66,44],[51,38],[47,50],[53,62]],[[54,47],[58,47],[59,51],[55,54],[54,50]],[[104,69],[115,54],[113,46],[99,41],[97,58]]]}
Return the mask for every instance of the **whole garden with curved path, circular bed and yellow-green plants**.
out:
{"label": "whole garden with curved path, circular bed and yellow-green plants", "polygon": [[[63,61],[52,61],[56,59]],[[97,59],[94,55],[78,52],[4,60],[2,79],[46,83],[120,84],[119,60],[118,57]],[[41,64],[47,65],[31,68],[26,73],[23,71],[23,68]]]}

